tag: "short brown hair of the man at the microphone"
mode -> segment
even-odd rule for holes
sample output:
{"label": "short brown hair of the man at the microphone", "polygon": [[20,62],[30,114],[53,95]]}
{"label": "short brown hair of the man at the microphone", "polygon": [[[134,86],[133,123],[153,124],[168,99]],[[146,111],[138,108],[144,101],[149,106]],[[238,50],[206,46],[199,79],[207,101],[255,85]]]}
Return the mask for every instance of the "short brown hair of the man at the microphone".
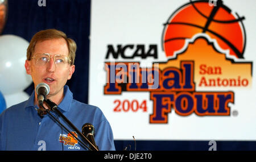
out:
{"label": "short brown hair of the man at the microphone", "polygon": [[42,30],[37,32],[31,39],[30,45],[28,45],[27,48],[27,60],[31,60],[32,53],[34,52],[35,45],[38,41],[44,41],[49,39],[58,39],[58,38],[64,38],[68,45],[68,57],[71,59],[71,65],[75,63],[75,57],[76,57],[76,42],[68,38],[67,35],[59,30],[56,29],[48,29],[48,30]]}

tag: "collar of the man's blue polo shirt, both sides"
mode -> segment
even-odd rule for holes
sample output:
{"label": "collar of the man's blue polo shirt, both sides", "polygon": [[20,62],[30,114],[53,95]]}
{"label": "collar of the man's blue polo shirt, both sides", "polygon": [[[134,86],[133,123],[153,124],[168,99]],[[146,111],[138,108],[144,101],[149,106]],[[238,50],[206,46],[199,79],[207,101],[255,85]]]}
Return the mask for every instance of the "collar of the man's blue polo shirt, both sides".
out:
{"label": "collar of the man's blue polo shirt, both sides", "polygon": [[[27,104],[25,107],[35,107],[34,105],[34,98],[35,98],[35,90],[30,95],[30,98],[27,100]],[[64,86],[64,98],[58,105],[61,110],[69,111],[71,109],[71,103],[73,100],[73,93],[69,90],[67,85]]]}

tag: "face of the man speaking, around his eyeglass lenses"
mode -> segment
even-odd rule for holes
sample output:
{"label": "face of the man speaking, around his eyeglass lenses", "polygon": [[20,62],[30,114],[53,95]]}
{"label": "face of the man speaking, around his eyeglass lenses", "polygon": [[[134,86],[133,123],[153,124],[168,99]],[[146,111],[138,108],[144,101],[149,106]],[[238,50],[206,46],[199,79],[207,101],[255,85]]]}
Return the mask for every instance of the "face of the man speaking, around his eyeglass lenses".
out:
{"label": "face of the man speaking, around his eyeglass lenses", "polygon": [[43,66],[37,65],[35,59],[26,60],[25,68],[27,74],[31,75],[35,86],[41,82],[49,85],[50,92],[48,97],[62,95],[64,85],[75,71],[75,65],[68,64],[67,68],[60,68],[53,60],[55,55],[68,56],[68,46],[65,39],[39,41],[35,45],[32,57],[37,53],[51,53],[51,59]]}

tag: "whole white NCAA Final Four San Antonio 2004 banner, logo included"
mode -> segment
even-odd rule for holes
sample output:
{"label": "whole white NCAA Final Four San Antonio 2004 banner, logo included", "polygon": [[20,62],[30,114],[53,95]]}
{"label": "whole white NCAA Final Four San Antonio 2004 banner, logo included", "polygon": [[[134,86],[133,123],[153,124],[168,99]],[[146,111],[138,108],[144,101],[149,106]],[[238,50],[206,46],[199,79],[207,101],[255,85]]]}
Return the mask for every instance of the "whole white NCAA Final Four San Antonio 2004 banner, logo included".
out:
{"label": "whole white NCAA Final Four San Antonio 2004 banner, logo included", "polygon": [[256,2],[93,0],[89,104],[115,140],[256,140]]}

